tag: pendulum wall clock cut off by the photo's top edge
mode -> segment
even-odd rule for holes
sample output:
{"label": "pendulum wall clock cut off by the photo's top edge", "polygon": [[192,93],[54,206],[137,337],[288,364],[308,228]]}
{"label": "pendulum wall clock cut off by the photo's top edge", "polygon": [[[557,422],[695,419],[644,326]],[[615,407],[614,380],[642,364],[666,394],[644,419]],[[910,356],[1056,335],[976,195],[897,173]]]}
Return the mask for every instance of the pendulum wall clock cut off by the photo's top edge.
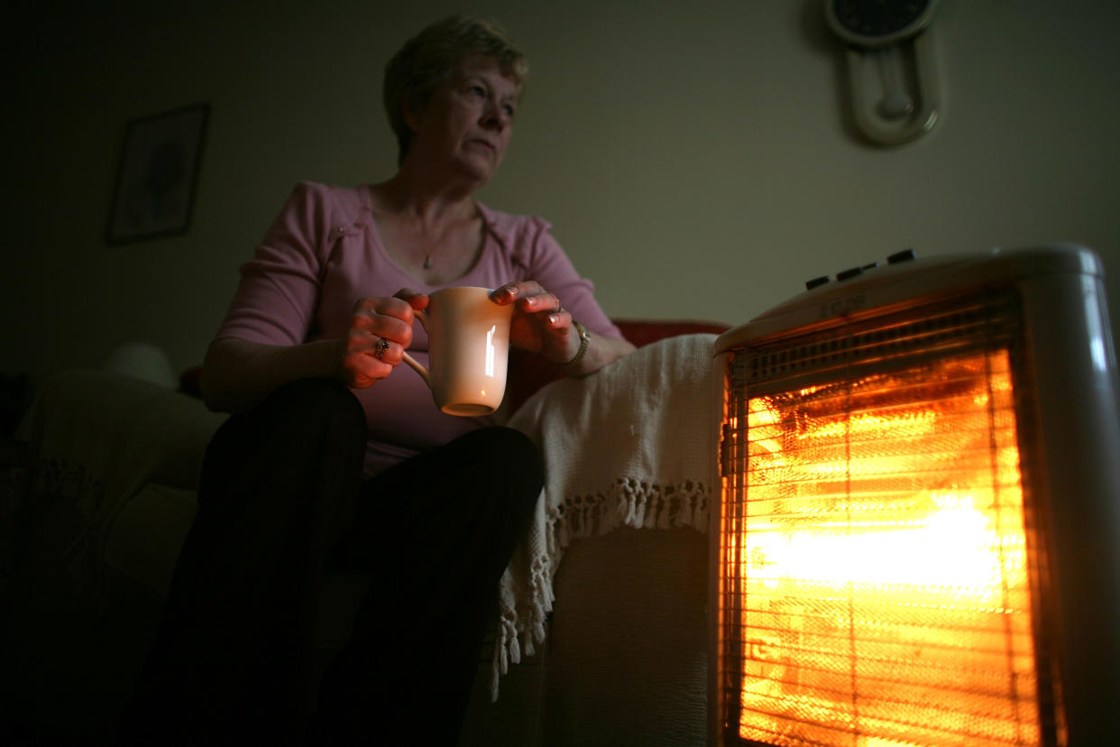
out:
{"label": "pendulum wall clock cut off by the photo's top edge", "polygon": [[856,127],[874,143],[899,146],[937,123],[940,96],[930,26],[937,0],[824,0],[846,44]]}

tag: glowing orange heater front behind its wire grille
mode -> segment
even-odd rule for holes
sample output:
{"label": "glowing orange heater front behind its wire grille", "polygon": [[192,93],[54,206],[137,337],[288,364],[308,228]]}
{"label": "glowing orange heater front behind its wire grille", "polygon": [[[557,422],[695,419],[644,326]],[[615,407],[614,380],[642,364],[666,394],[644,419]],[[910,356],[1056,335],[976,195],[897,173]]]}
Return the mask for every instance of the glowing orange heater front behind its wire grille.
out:
{"label": "glowing orange heater front behind its wire grille", "polygon": [[941,299],[732,353],[725,739],[1055,744],[1017,308],[1011,293]]}

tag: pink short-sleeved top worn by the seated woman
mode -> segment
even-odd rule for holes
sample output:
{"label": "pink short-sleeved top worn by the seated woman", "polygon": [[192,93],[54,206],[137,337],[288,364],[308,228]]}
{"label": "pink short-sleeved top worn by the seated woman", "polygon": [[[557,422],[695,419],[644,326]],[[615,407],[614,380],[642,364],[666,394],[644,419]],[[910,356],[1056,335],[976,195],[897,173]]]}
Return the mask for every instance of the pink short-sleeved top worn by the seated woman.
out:
{"label": "pink short-sleeved top worn by the seated woman", "polygon": [[[482,255],[467,274],[448,286],[497,288],[513,280],[536,280],[588,329],[622,337],[596,302],[591,282],[576,273],[549,233],[548,222],[483,205],[478,211],[487,228]],[[272,345],[340,337],[354,302],[363,296],[444,287],[407,274],[389,258],[377,236],[367,187],[300,183],[253,259],[242,265],[241,283],[217,336]],[[428,337],[417,324],[409,352],[427,365],[427,351]],[[489,422],[441,413],[408,366],[399,366],[368,389],[353,391],[368,426],[368,474]]]}

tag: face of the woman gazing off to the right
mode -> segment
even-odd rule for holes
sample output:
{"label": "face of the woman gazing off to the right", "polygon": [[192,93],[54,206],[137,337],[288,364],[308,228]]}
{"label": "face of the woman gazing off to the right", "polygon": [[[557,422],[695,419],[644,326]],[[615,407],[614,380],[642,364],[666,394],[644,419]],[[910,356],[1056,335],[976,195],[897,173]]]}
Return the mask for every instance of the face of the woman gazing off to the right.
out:
{"label": "face of the woman gazing off to the right", "polygon": [[409,156],[447,164],[484,184],[505,157],[516,106],[516,84],[497,62],[464,57],[423,111],[405,113],[414,132]]}

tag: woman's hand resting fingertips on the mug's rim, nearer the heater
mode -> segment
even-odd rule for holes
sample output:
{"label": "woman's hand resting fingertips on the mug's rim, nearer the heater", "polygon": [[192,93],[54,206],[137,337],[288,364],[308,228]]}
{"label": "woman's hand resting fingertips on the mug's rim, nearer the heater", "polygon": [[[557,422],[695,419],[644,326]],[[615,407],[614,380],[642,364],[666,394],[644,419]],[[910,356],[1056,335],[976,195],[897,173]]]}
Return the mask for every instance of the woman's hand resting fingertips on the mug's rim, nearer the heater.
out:
{"label": "woman's hand resting fingertips on the mug's rim, nearer the heater", "polygon": [[571,315],[535,280],[506,283],[491,293],[491,300],[498,306],[514,305],[510,323],[510,344],[514,347],[540,353],[556,363],[576,356],[580,340]]}

